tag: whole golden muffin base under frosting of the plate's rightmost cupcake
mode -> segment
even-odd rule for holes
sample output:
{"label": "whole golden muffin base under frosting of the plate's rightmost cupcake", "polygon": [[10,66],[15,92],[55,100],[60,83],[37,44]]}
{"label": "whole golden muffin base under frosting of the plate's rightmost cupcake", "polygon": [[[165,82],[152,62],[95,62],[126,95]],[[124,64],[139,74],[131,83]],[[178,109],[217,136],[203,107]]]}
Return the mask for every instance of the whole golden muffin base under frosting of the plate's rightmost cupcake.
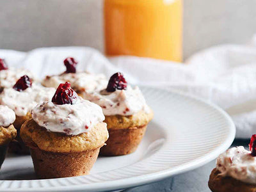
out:
{"label": "whole golden muffin base under frosting of the plate's rightmost cupcake", "polygon": [[105,146],[100,148],[102,156],[123,156],[134,152],[140,144],[147,124],[152,120],[153,111],[140,111],[134,115],[105,116],[109,138]]}

